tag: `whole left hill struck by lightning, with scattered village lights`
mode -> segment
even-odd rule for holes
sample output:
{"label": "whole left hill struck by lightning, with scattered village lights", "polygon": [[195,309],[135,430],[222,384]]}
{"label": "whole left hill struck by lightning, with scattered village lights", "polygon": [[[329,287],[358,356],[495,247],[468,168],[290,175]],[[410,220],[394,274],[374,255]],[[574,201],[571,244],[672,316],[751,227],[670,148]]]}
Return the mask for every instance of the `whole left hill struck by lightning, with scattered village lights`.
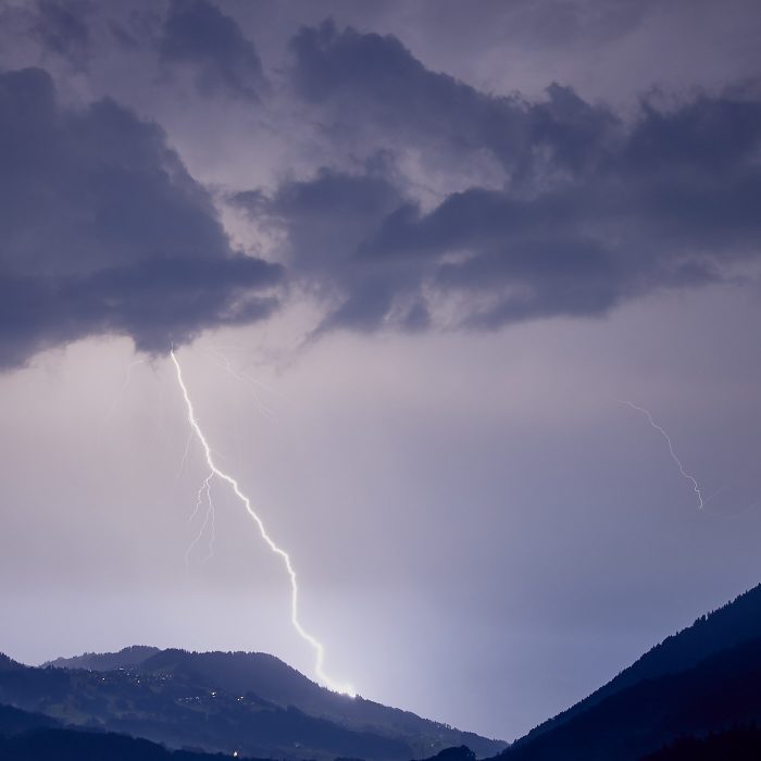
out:
{"label": "whole left hill struck by lightning, with scattered village lights", "polygon": [[337,695],[265,653],[127,648],[54,663],[0,669],[0,702],[172,748],[260,758],[409,761],[463,745],[490,756],[506,745]]}

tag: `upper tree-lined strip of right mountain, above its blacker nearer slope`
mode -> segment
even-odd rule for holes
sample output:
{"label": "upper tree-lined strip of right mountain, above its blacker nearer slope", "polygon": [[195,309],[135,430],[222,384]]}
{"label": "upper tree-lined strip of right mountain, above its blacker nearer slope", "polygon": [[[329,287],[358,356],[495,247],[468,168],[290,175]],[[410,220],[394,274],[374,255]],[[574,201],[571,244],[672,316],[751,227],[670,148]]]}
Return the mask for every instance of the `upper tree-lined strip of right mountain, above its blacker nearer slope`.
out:
{"label": "upper tree-lined strip of right mountain, above its blacker nearer slope", "polygon": [[657,645],[607,685],[557,716],[539,724],[517,744],[557,728],[606,698],[643,679],[654,679],[696,665],[709,656],[761,637],[761,585],[740,595],[691,626]]}

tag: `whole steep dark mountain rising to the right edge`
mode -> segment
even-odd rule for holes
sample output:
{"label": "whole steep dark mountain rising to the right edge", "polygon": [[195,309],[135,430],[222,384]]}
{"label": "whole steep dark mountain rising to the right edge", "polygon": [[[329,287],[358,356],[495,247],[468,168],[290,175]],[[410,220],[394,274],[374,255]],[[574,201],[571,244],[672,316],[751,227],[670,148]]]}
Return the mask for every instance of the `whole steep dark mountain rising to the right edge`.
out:
{"label": "whole steep dark mountain rising to the right edge", "polygon": [[761,586],[669,637],[500,761],[635,760],[679,736],[761,722]]}

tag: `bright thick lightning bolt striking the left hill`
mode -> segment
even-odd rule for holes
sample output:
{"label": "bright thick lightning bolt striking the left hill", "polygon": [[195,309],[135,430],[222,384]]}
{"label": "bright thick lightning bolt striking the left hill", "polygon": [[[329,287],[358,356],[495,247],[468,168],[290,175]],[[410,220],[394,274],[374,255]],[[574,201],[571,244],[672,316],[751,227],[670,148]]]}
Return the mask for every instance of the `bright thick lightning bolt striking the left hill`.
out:
{"label": "bright thick lightning bolt striking the left hill", "polygon": [[[183,398],[185,399],[185,406],[188,411],[188,423],[190,424],[190,428],[196,434],[196,437],[198,438],[198,440],[201,444],[201,447],[203,448],[203,453],[205,456],[209,470],[211,471],[212,475],[217,476],[217,478],[224,481],[230,486],[230,488],[235,492],[235,496],[244,503],[246,512],[248,512],[253,522],[257,524],[262,539],[264,539],[267,547],[283,560],[283,563],[286,566],[286,571],[288,572],[288,576],[290,577],[290,621],[294,624],[294,628],[298,632],[299,636],[303,640],[309,643],[309,645],[311,645],[314,649],[316,656],[314,673],[316,674],[317,678],[329,689],[336,693],[342,693],[353,698],[357,694],[350,685],[337,684],[333,679],[330,679],[325,673],[323,669],[323,663],[325,661],[325,648],[320,640],[317,640],[309,632],[307,632],[307,629],[301,625],[301,622],[299,621],[299,587],[296,579],[296,571],[294,570],[294,566],[290,562],[290,557],[284,549],[278,547],[270,537],[270,535],[266,532],[266,528],[264,527],[262,519],[259,517],[257,512],[251,507],[251,500],[240,490],[238,482],[235,478],[233,478],[233,476],[228,475],[224,471],[221,471],[216,466],[216,463],[214,462],[214,458],[212,456],[211,447],[209,446],[207,437],[203,435],[203,432],[201,431],[201,427],[198,424],[198,420],[196,419],[196,412],[194,410],[192,402],[190,401],[188,389],[185,386],[185,382],[183,380],[183,371],[179,366],[177,358],[175,357],[174,349],[170,352],[170,355],[172,357],[172,362],[174,362],[175,370],[177,371],[177,383],[179,384],[179,388],[182,389]],[[204,482],[207,488],[210,478],[211,476],[209,476],[209,478],[207,478],[207,481]],[[201,489],[203,489],[203,487],[201,487]]]}

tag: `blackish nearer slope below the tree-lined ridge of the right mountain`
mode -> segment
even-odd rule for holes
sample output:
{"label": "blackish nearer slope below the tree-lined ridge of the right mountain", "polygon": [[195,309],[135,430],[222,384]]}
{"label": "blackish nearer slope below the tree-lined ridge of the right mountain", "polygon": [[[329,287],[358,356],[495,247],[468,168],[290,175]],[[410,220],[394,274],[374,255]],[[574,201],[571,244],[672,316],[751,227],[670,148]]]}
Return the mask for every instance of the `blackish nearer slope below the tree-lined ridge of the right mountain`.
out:
{"label": "blackish nearer slope below the tree-lined ridge of the right mountain", "polygon": [[501,761],[634,761],[679,736],[761,721],[761,638],[644,679],[514,744]]}

